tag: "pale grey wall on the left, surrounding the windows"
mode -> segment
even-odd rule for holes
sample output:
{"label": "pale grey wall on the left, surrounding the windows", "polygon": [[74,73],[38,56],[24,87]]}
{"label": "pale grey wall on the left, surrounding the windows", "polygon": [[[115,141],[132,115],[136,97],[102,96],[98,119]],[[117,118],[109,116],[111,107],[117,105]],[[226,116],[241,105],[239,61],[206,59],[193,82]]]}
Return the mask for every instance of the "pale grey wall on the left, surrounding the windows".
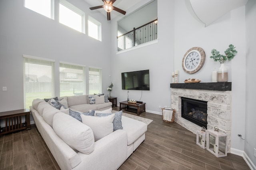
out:
{"label": "pale grey wall on the left, surrounding the windows", "polygon": [[52,20],[25,8],[23,0],[0,1],[0,112],[24,108],[23,54],[55,60],[56,96],[59,61],[100,67],[102,87],[110,84],[110,53],[106,52],[110,48],[110,23],[102,14],[90,13],[84,0],[70,2],[83,10],[86,18],[90,15],[102,23],[102,42],[58,23],[58,10],[56,20]]}

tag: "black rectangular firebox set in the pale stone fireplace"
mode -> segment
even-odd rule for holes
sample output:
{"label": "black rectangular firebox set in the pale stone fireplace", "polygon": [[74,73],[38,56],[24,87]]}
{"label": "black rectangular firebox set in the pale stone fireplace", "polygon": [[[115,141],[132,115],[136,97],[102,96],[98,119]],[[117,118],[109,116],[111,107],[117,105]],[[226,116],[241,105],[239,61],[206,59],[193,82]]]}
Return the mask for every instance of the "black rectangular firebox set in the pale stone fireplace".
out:
{"label": "black rectangular firebox set in the pale stone fireplace", "polygon": [[207,101],[181,97],[181,117],[207,129]]}

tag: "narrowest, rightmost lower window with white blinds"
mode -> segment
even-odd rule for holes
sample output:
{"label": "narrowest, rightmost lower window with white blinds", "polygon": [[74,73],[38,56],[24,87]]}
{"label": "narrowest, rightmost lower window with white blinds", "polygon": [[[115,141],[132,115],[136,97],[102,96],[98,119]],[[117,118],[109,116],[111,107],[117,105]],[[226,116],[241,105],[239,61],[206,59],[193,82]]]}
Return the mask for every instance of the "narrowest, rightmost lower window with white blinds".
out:
{"label": "narrowest, rightmost lower window with white blinds", "polygon": [[89,68],[89,94],[102,93],[102,69]]}

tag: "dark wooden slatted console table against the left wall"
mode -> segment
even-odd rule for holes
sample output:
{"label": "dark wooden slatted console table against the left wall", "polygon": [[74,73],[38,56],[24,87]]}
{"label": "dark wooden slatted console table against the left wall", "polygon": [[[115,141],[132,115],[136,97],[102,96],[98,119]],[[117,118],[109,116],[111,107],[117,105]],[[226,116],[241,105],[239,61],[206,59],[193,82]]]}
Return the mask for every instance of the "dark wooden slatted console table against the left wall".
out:
{"label": "dark wooden slatted console table against the left wall", "polygon": [[[25,122],[22,123],[22,118]],[[30,129],[30,110],[20,109],[0,113],[0,121],[4,120],[5,127],[0,126],[0,135],[22,129]]]}

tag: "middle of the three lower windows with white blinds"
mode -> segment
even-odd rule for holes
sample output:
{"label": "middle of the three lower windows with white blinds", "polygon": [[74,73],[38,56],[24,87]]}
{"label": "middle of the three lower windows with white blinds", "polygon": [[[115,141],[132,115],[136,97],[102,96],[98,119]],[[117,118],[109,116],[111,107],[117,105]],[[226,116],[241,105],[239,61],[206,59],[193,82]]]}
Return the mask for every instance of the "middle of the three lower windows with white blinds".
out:
{"label": "middle of the three lower windows with white blinds", "polygon": [[60,97],[85,94],[85,66],[60,63]]}

